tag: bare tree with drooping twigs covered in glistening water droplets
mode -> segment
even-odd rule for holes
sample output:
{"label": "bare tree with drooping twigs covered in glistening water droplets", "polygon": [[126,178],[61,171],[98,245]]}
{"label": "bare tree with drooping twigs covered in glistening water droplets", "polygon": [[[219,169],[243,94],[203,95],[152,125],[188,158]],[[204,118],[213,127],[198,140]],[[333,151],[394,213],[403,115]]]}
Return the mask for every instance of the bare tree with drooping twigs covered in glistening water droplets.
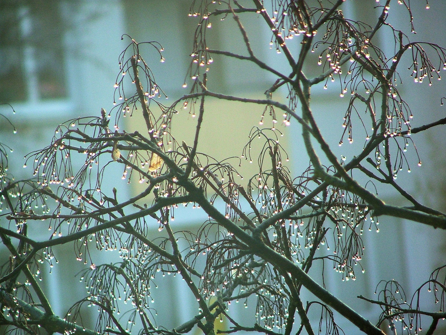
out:
{"label": "bare tree with drooping twigs covered in glistening water droplets", "polygon": [[[250,7],[236,0],[194,1],[190,15],[197,17],[199,24],[187,75],[191,90],[170,106],[160,102],[165,92],[157,85],[150,62],[141,54],[143,47],[155,48],[163,60],[163,48],[157,42],[138,43],[124,36],[130,42],[120,55],[116,106],[111,113],[102,109],[100,115],[60,125],[48,147],[27,156],[26,164],[33,166],[34,177],[30,180],[16,181],[7,174],[7,147],[1,147],[1,199],[3,213],[7,214],[1,217],[0,235],[11,254],[1,268],[0,279],[0,323],[6,331],[126,335],[139,319],[141,328],[137,331],[141,334],[173,335],[198,326],[210,335],[216,332],[215,320],[224,317],[230,326],[220,333],[256,331],[275,335],[277,329],[286,335],[303,331],[339,334],[343,331],[337,325],[335,311],[366,334],[383,334],[383,322],[393,334],[417,334],[421,318],[431,319],[426,334],[432,334],[438,321],[446,317],[445,267],[427,275],[412,298],[404,296],[396,281],[380,283],[377,300],[360,296],[382,308],[378,324],[372,324],[326,290],[320,281],[323,273],[318,278],[308,275],[314,262],[325,261],[334,264],[343,278],[354,280],[356,265],[363,257],[363,229],[376,225],[380,216],[446,229],[444,213],[418,202],[395,180],[407,165],[405,151],[412,142],[410,135],[446,124],[446,118],[442,118],[425,126],[410,126],[412,112],[395,85],[400,80],[398,65],[401,59],[409,59],[413,79],[432,84],[441,79],[439,73],[446,68],[446,49],[434,43],[411,42],[390,25],[390,2],[376,4],[381,14],[376,24],[369,26],[344,17],[343,0],[314,1],[315,7],[303,0],[273,0],[269,4],[253,0]],[[408,1],[398,2],[405,6],[412,23]],[[239,17],[242,14],[256,15],[271,29],[273,46],[287,59],[287,72],[277,71],[254,54]],[[213,17],[235,20],[245,51],[235,54],[207,46],[206,29]],[[384,55],[374,43],[380,29],[392,36],[394,54]],[[288,48],[290,38],[301,41],[297,54]],[[309,78],[303,69],[312,52],[319,54],[320,74]],[[254,63],[277,76],[265,99],[208,90],[206,71],[216,54]],[[345,137],[352,141],[353,120],[363,124],[363,130],[357,130],[360,135],[356,135],[362,136],[363,148],[348,162],[330,150],[330,145],[338,143],[324,140],[311,109],[311,88],[328,80],[338,85],[341,95],[351,94],[339,144]],[[274,100],[281,87],[288,90],[286,103]],[[241,158],[257,157],[258,172],[244,184],[237,172],[240,159],[219,161],[197,151],[208,99],[264,106],[265,118],[271,115],[273,125],[281,114],[285,124],[297,122],[310,166],[293,178],[278,140],[279,130],[254,126]],[[173,138],[170,129],[178,106],[194,109],[195,105],[199,107],[194,142]],[[143,115],[147,131],[121,129],[121,117],[132,113]],[[260,152],[251,149],[254,138],[264,142]],[[145,190],[125,201],[118,200],[116,188],[112,194],[105,194],[101,186],[107,183],[107,171],[117,166],[123,171],[123,179],[145,183]],[[384,203],[367,184],[359,182],[359,176],[392,187],[410,205]],[[151,205],[138,205],[137,201],[151,194]],[[209,219],[196,231],[176,231],[172,221],[180,205],[198,207]],[[50,236],[38,241],[27,234],[27,227],[41,221],[38,224],[47,225]],[[159,227],[157,236],[148,234],[154,225]],[[87,285],[87,297],[74,304],[66,316],[57,316],[35,273],[42,263],[54,262],[53,248],[62,244],[74,246],[76,257],[90,267],[80,275]],[[324,244],[331,250],[320,248]],[[119,249],[122,261],[95,264],[92,248]],[[166,329],[158,325],[157,315],[150,308],[151,285],[162,283],[161,275],[170,273],[184,279],[196,298],[198,312],[188,322]],[[431,309],[420,305],[421,289],[426,286],[434,290],[438,303]],[[306,306],[300,298],[303,288],[314,295],[314,301]],[[125,322],[117,316],[117,296],[132,303]],[[256,301],[256,322],[240,324],[227,305],[248,298]],[[94,330],[84,328],[79,317],[84,304],[99,310]],[[321,310],[320,320],[308,317],[315,309]]]}

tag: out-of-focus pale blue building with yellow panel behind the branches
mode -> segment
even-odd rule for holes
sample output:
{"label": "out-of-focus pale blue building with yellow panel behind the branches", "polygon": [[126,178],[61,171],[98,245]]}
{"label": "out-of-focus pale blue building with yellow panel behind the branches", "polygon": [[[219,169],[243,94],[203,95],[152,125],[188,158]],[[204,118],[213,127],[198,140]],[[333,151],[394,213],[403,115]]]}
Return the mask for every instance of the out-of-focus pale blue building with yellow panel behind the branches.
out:
{"label": "out-of-focus pale blue building with yellow panel behind the branches", "polygon": [[[252,7],[249,1],[240,3]],[[375,6],[379,4],[374,0],[347,0],[342,10],[346,17],[375,25],[381,12]],[[388,21],[396,29],[402,29],[411,41],[435,42],[446,46],[446,4],[442,0],[433,0],[429,6],[426,9],[425,1],[421,0],[412,2],[417,34],[410,33],[409,13],[396,1],[391,2]],[[118,57],[130,43],[128,38],[121,40],[123,34],[130,35],[136,42],[157,41],[164,47],[164,63],[160,62],[156,50],[147,48],[142,51],[158,85],[169,96],[162,103],[169,105],[188,93],[189,88],[182,88],[182,84],[190,64],[189,54],[197,26],[197,18],[188,16],[188,13],[189,0],[1,0],[0,103],[11,104],[17,112],[13,114],[10,106],[0,105],[0,113],[8,117],[17,128],[17,134],[13,134],[13,128],[1,118],[0,142],[14,150],[8,157],[9,172],[16,179],[30,178],[32,170],[23,168],[23,157],[30,151],[49,145],[56,126],[68,119],[99,116],[101,108],[107,111],[112,109],[113,85],[119,75]],[[231,17],[222,18],[211,18],[212,28],[206,30],[208,46],[211,49],[247,54],[235,21]],[[240,20],[257,57],[278,71],[288,73],[285,57],[269,44],[271,31],[263,24],[261,17],[255,13],[240,14]],[[395,51],[390,30],[381,29],[375,38],[374,42],[388,58],[393,57]],[[297,39],[289,41],[288,45],[294,54],[298,53]],[[321,71],[317,66],[317,54],[310,57],[313,59],[309,59],[305,71],[317,75]],[[264,98],[264,91],[276,80],[272,74],[248,62],[217,55],[213,59],[208,74],[208,88],[213,92]],[[432,87],[427,83],[415,84],[410,71],[405,71],[407,67],[405,63],[400,64],[404,84],[398,87],[413,111],[411,125],[421,126],[445,117],[446,108],[440,105],[440,98],[446,96],[445,80],[435,82]],[[186,78],[186,83],[190,84],[190,79]],[[343,116],[349,97],[347,94],[347,97],[340,98],[340,89],[335,83],[329,83],[326,90],[322,89],[323,85],[320,83],[312,90],[312,110],[327,142],[333,143],[332,150],[338,157],[344,155],[348,161],[361,149],[364,137],[359,134],[353,144],[346,143],[342,147],[336,145],[343,132]],[[285,91],[273,95],[273,99],[286,103],[285,97]],[[217,159],[241,156],[248,142],[249,131],[252,126],[259,124],[262,113],[263,108],[259,105],[207,99],[198,150],[211,153]],[[280,139],[281,144],[290,158],[288,166],[294,177],[299,176],[309,163],[301,142],[301,129],[293,121],[290,126],[282,124],[281,115],[278,115],[278,119],[276,127],[284,134]],[[128,117],[124,120],[124,129],[140,129],[140,123],[141,119],[137,115]],[[268,116],[264,123],[272,125]],[[122,128],[123,125],[120,126]],[[173,119],[172,131],[179,141],[191,144],[195,126],[196,120],[190,113],[181,110]],[[442,211],[446,210],[445,134],[444,126],[414,134],[413,140],[423,164],[417,166],[418,157],[410,148],[407,158],[411,173],[407,173],[405,167],[397,179],[417,200]],[[248,177],[255,174],[254,165],[243,161],[241,175]],[[122,199],[137,193],[140,184],[127,184],[121,180],[121,176],[122,171],[111,171],[110,183],[106,187],[103,185],[103,189],[108,188],[110,192],[111,188],[118,188]],[[399,194],[390,189],[379,189],[379,195],[392,204],[404,204]],[[179,212],[175,222],[178,227],[190,227],[201,224],[203,218],[206,219],[206,216],[200,213],[181,216]],[[0,222],[2,225],[7,224],[4,217],[0,217]],[[372,323],[376,322],[380,309],[360,301],[357,295],[376,298],[373,292],[378,282],[395,279],[406,289],[410,299],[414,290],[429,278],[430,272],[446,263],[444,231],[388,217],[380,218],[380,222],[379,233],[372,227],[371,232],[367,231],[363,235],[366,246],[362,263],[366,269],[364,274],[358,273],[355,282],[346,282],[332,270],[331,264],[326,265],[325,271],[327,289]],[[42,225],[34,227],[33,234],[37,240],[49,238],[47,226],[45,228],[45,223]],[[156,223],[153,228],[156,234]],[[1,249],[1,259],[5,260],[7,255],[6,250]],[[49,271],[41,271],[44,279],[42,285],[54,311],[64,315],[74,301],[86,295],[84,285],[74,279],[75,274],[85,265],[75,260],[69,246],[58,248],[56,256],[59,264],[51,269],[51,275]],[[96,264],[119,260],[119,255],[113,252],[95,257]],[[321,267],[314,266],[310,275],[321,270]],[[71,280],[79,285],[70,283],[70,289],[67,290],[63,283]],[[179,278],[166,277],[158,285],[160,288],[153,293],[154,308],[165,320],[164,326],[175,327],[196,314],[198,305],[194,298],[187,292],[178,294],[184,290]],[[302,294],[305,295],[302,298],[304,302],[312,300],[309,294]],[[433,299],[426,292],[425,303],[432,303]],[[241,303],[240,306],[234,305],[230,308],[235,312],[239,310],[240,320],[246,320],[243,322],[246,325],[252,324],[254,314],[251,308],[245,310]],[[84,321],[94,324],[95,312],[87,313]],[[351,334],[354,328],[351,328],[349,322],[342,318],[337,321],[346,334]],[[443,326],[443,330],[438,333],[444,332]]]}

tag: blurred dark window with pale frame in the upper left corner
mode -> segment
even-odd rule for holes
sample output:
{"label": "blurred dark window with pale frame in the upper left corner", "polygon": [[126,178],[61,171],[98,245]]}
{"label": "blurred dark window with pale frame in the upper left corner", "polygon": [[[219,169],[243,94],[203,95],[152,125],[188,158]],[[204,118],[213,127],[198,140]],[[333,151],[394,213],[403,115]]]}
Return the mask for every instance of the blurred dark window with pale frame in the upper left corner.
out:
{"label": "blurred dark window with pale frame in the upper left corner", "polygon": [[38,109],[58,101],[60,108],[68,90],[59,2],[8,1],[0,6],[0,102]]}

